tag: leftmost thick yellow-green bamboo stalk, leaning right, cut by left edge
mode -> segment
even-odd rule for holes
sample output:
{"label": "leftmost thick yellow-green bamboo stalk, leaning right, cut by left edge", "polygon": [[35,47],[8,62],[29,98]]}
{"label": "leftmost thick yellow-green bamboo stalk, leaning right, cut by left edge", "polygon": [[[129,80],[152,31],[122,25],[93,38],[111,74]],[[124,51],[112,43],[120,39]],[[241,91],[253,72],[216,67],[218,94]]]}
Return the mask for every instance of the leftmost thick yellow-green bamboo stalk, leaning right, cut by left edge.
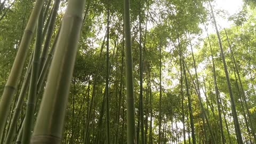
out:
{"label": "leftmost thick yellow-green bamboo stalk, leaning right, cut by left edge", "polygon": [[35,31],[37,19],[43,7],[44,1],[37,0],[30,15],[27,27],[21,39],[21,43],[15,57],[10,76],[5,84],[4,92],[0,101],[0,134],[3,133],[4,125],[9,114],[13,95],[17,90],[17,85],[21,77],[22,69],[28,53],[28,47]]}

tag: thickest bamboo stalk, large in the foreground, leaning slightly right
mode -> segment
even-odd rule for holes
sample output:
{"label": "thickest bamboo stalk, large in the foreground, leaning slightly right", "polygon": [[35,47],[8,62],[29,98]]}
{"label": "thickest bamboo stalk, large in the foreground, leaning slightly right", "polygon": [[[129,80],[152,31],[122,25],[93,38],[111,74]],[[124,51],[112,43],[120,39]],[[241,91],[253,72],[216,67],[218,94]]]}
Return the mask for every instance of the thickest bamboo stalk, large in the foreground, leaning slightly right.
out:
{"label": "thickest bamboo stalk, large in the foreground, leaning slightly right", "polygon": [[68,1],[31,144],[61,143],[84,7],[85,0]]}

